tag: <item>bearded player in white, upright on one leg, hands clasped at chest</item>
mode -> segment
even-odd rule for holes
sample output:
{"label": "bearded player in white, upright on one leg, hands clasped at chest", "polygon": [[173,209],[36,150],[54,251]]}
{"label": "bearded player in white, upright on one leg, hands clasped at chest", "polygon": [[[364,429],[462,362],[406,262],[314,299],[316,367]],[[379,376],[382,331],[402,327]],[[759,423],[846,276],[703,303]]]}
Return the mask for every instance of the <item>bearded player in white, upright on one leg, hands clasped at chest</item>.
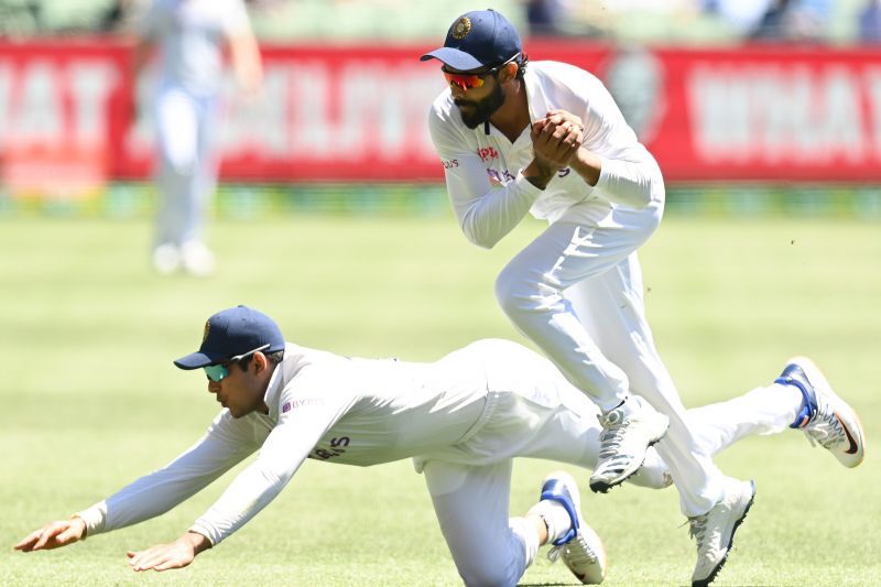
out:
{"label": "bearded player in white, upright on one leg, hands clasped at chest", "polygon": [[697,541],[693,583],[710,583],[754,485],[725,477],[689,428],[646,322],[637,250],[661,221],[661,170],[599,79],[530,63],[496,11],[456,19],[422,59],[442,62],[449,84],[428,127],[465,236],[490,248],[526,213],[551,225],[502,270],[496,295],[601,410],[590,488],[633,475],[660,441]]}

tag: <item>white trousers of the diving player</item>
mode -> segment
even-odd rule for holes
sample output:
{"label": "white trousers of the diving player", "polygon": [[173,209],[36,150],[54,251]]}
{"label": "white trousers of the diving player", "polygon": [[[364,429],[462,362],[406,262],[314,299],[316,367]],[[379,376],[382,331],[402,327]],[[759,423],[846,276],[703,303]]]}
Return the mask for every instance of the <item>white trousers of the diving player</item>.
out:
{"label": "white trousers of the diving player", "polygon": [[[539,536],[525,519],[509,519],[511,464],[531,457],[594,469],[599,410],[547,359],[521,345],[483,340],[467,350],[481,354],[487,372],[482,414],[466,439],[415,457],[414,465],[425,474],[440,530],[465,584],[515,585],[535,559]],[[716,454],[744,436],[787,430],[800,406],[795,388],[772,384],[689,410],[687,417],[704,450]],[[646,468],[654,472],[646,475]],[[645,467],[630,481],[663,488],[665,468],[650,453]]]}

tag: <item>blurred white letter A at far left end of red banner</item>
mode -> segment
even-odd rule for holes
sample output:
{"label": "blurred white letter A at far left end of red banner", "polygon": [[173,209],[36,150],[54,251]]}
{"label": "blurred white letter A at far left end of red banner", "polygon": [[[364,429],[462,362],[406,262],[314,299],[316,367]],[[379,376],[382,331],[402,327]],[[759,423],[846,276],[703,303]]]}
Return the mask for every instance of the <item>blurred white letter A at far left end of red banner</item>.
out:
{"label": "blurred white letter A at far left end of red banner", "polygon": [[55,145],[64,140],[59,76],[47,61],[30,62],[11,117],[10,139],[19,144]]}

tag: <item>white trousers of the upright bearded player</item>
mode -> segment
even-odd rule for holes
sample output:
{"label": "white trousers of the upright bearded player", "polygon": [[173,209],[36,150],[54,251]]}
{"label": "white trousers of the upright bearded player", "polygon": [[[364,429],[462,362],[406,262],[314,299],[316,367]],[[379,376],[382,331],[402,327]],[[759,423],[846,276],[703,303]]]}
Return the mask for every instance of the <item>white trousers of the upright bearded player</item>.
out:
{"label": "white trousers of the upright bearded player", "polygon": [[597,226],[551,225],[502,270],[496,295],[514,325],[601,409],[628,391],[670,417],[657,444],[687,517],[722,496],[722,474],[686,424],[676,387],[654,346],[637,249],[663,206],[614,207]]}

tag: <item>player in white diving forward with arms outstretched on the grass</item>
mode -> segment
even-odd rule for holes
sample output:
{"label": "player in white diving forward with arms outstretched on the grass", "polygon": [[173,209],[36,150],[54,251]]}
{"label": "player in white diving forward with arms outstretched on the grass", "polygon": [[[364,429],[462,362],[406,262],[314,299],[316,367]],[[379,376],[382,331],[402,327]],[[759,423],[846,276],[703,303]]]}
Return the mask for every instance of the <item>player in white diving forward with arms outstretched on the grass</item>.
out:
{"label": "player in white diving forward with arms outstretched on the grass", "polygon": [[[520,345],[480,340],[432,363],[352,359],[285,343],[271,318],[238,306],[211,316],[199,350],[175,365],[204,368],[208,391],[224,406],[207,434],[163,469],[70,520],[46,524],[15,548],[56,548],[164,513],[260,449],[180,539],[128,553],[132,568],[187,566],[260,512],[306,458],[370,466],[412,457],[466,585],[515,585],[543,544],[583,583],[606,577],[602,543],[585,523],[566,472],[545,478],[524,517],[508,518],[513,457],[591,468],[600,435],[596,406]],[[849,418],[861,458],[856,415],[807,359],[791,361],[772,385],[688,416],[708,453],[796,422],[856,466],[846,435],[830,427],[835,411]],[[671,482],[651,449],[630,480],[653,488]]]}

